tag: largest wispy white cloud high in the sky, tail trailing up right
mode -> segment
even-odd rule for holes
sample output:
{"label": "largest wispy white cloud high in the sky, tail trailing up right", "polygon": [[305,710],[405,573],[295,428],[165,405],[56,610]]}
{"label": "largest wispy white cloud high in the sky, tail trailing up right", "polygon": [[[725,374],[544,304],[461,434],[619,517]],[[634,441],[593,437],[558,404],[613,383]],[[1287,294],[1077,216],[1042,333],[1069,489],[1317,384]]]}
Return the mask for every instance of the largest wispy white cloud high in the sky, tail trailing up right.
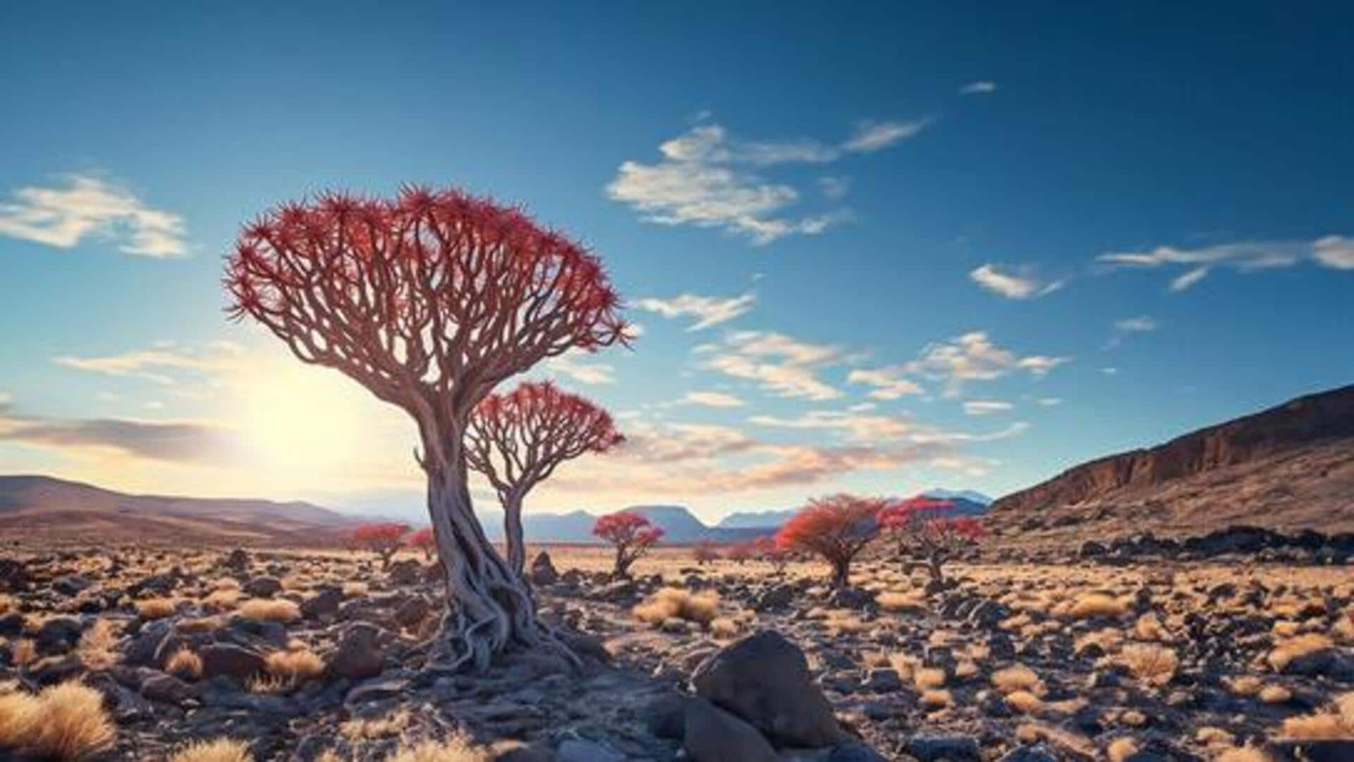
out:
{"label": "largest wispy white cloud high in the sky, tail trailing up right", "polygon": [[[812,138],[741,140],[720,125],[697,125],[662,142],[657,163],[628,160],[607,184],[607,195],[639,210],[661,225],[718,228],[768,244],[793,235],[818,235],[850,220],[846,209],[792,214],[802,199],[798,187],[768,180],[758,171],[781,164],[829,164],[846,153],[869,153],[917,134],[926,122],[862,125],[839,145]],[[845,184],[823,187],[841,198]]]}

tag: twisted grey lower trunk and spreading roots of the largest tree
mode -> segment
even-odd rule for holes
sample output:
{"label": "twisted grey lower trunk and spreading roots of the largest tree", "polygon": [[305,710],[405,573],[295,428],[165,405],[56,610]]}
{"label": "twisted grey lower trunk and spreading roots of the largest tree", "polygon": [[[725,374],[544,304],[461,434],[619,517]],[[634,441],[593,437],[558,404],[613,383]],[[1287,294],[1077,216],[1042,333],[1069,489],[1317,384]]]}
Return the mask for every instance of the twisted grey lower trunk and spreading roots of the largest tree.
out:
{"label": "twisted grey lower trunk and spreading roots of the largest tree", "polygon": [[[447,616],[441,643],[452,668],[489,667],[504,651],[548,647],[577,658],[536,621],[525,583],[498,555],[475,518],[459,447],[451,464],[428,464],[428,515],[447,575]],[[456,462],[459,461],[459,462]]]}

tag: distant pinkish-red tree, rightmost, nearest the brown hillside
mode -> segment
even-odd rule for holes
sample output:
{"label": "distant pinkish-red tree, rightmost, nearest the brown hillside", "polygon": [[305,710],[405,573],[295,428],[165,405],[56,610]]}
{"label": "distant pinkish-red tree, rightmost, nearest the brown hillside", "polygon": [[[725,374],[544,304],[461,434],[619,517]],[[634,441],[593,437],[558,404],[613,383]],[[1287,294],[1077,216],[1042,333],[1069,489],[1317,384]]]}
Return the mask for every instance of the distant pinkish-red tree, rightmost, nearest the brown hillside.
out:
{"label": "distant pinkish-red tree, rightmost, nearest the brown hillside", "polygon": [[899,559],[919,560],[933,582],[944,583],[945,561],[983,537],[982,522],[953,513],[953,502],[922,496],[892,503],[876,518],[880,532],[896,544]]}

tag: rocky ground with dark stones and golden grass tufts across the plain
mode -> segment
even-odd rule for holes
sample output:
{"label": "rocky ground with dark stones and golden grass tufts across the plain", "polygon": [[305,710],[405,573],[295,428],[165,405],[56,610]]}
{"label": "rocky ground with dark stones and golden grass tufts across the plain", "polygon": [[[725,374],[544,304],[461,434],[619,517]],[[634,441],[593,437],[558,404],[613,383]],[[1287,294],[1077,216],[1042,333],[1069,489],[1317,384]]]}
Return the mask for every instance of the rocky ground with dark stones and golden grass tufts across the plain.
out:
{"label": "rocky ground with dark stones and golden grass tufts across the plain", "polygon": [[[420,559],[15,552],[0,759],[34,751],[7,706],[76,712],[50,687],[68,681],[102,700],[102,759],[222,738],[260,761],[418,759],[429,739],[425,759],[1354,759],[1349,565],[951,571],[862,563],[830,590],[815,564],[673,549],[612,582],[600,550],[556,549],[538,594],[586,667],[517,655],[470,677],[424,668],[437,586]],[[195,754],[176,762],[240,759]]]}

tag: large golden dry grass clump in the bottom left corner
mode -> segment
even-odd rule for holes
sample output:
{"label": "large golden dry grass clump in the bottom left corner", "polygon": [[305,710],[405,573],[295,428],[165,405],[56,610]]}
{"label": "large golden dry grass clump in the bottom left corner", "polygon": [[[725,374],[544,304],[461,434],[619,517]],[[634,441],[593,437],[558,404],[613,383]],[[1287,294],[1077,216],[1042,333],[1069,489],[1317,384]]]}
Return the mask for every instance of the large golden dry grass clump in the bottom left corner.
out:
{"label": "large golden dry grass clump in the bottom left corner", "polygon": [[92,687],[64,682],[37,696],[0,694],[0,748],[39,758],[80,759],[107,751],[118,731]]}

